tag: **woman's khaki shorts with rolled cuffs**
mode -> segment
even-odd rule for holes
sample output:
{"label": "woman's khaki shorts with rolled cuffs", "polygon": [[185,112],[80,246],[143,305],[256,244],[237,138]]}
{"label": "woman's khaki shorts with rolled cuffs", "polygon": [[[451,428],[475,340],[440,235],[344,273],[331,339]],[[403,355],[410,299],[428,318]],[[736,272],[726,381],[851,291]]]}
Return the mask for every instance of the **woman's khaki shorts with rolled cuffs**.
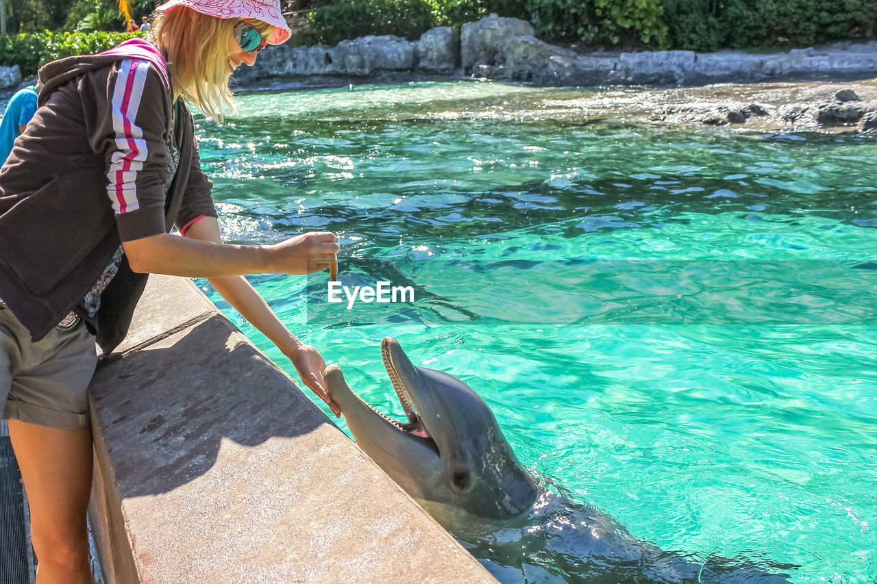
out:
{"label": "woman's khaki shorts with rolled cuffs", "polygon": [[54,428],[89,425],[88,389],[97,362],[95,338],[80,323],[54,328],[34,343],[0,303],[0,410],[4,419]]}

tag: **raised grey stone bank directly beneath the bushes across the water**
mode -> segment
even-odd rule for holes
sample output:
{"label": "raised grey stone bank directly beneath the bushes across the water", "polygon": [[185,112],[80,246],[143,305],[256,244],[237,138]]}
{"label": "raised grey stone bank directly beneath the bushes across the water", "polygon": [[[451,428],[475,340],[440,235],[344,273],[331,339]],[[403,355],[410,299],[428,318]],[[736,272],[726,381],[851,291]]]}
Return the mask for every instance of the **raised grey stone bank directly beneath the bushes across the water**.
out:
{"label": "raised grey stone bank directly beneath the bushes across the water", "polygon": [[423,75],[526,82],[538,86],[704,85],[718,82],[810,81],[877,76],[877,41],[840,43],[786,53],[644,51],[576,53],[537,39],[533,26],[496,15],[424,32],[417,41],[392,36],[344,40],[336,46],[277,46],[240,71],[241,87],[267,80],[408,81]]}

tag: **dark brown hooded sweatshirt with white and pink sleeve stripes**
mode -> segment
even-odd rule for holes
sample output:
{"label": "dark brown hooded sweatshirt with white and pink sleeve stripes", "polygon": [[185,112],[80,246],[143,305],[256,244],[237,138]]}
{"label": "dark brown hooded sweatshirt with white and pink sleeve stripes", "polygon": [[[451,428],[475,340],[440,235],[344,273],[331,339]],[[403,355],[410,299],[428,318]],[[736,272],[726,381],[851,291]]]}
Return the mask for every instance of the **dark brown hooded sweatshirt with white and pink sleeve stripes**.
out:
{"label": "dark brown hooded sweatshirt with white and pink sleeve stripes", "polygon": [[[216,217],[191,114],[177,104],[174,123],[154,46],[132,39],[54,61],[39,80],[39,109],[0,171],[0,298],[34,340],[82,302],[121,241]],[[104,354],[145,286],[123,258],[89,322]]]}

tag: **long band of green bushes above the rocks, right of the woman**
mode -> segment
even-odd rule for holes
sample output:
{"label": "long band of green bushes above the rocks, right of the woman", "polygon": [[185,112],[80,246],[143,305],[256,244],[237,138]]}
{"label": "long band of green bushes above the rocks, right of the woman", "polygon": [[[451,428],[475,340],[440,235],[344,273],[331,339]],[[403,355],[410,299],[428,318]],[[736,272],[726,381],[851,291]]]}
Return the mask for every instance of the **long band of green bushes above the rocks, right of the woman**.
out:
{"label": "long band of green bushes above the rocks, right of the woman", "polygon": [[338,0],[310,14],[303,40],[417,39],[431,26],[459,27],[491,12],[529,19],[548,42],[701,52],[807,46],[877,32],[877,0]]}

